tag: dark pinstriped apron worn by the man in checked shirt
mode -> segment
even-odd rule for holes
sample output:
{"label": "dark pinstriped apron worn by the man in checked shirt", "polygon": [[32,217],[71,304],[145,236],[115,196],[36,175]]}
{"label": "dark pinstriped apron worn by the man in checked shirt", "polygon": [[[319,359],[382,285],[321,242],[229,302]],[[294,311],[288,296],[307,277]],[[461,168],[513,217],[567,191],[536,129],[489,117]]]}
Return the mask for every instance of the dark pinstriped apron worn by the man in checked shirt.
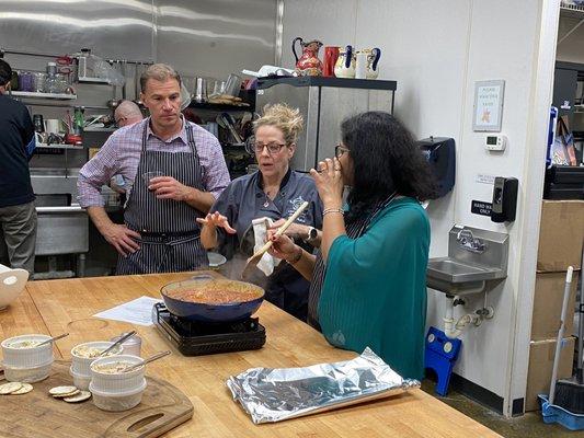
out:
{"label": "dark pinstriped apron worn by the man in checked shirt", "polygon": [[186,124],[191,152],[146,150],[147,127],[142,132],[140,161],[134,186],[124,210],[124,222],[140,233],[140,249],[118,256],[117,275],[175,273],[208,266],[207,252],[201,244],[197,217],[204,215],[184,201],[157,199],[141,175],[160,171],[181,184],[204,191],[203,166],[196,151],[193,128]]}

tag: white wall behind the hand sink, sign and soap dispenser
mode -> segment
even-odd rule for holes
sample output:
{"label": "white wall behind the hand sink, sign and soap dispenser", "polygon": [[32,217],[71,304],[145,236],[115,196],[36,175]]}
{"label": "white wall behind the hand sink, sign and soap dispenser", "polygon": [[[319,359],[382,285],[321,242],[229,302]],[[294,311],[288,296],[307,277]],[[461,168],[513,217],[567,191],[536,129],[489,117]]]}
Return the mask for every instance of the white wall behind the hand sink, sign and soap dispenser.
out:
{"label": "white wall behind the hand sink, sign and soap dispenser", "polygon": [[[537,256],[533,242],[537,242],[543,176],[543,166],[539,170],[537,163],[543,162],[546,145],[546,125],[539,124],[551,103],[553,58],[545,60],[539,77],[536,73],[542,62],[541,46],[552,53],[554,48],[553,42],[540,44],[541,10],[549,14],[550,3],[558,1],[288,0],[284,11],[284,47],[295,36],[319,38],[325,46],[380,47],[379,79],[398,81],[396,115],[417,138],[455,138],[455,192],[428,207],[431,256],[447,254],[447,232],[454,223],[509,233],[508,278],[488,296],[495,318],[462,335],[455,369],[504,397],[505,410],[525,395],[526,326],[530,328]],[[283,62],[293,65],[291,53],[284,50]],[[509,146],[501,154],[486,152],[484,132],[472,130],[474,82],[493,79],[505,80],[502,132]],[[534,104],[540,105],[539,112]],[[534,164],[538,170],[531,169]],[[470,212],[472,199],[492,197],[492,185],[477,182],[479,173],[519,180],[517,219],[511,226]],[[483,300],[483,296],[470,299],[467,310],[482,307]],[[428,325],[442,328],[444,301],[442,292],[428,290]]]}

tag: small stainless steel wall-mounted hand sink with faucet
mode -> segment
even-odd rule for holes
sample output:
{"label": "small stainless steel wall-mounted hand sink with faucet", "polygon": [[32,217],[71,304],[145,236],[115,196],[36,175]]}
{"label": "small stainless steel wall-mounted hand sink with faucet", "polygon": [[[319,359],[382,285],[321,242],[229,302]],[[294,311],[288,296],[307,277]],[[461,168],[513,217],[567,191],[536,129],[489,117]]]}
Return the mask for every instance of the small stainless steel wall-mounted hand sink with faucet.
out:
{"label": "small stainless steel wall-mounted hand sink with faucet", "polygon": [[507,234],[455,226],[448,256],[428,261],[426,285],[448,295],[480,292],[507,276]]}

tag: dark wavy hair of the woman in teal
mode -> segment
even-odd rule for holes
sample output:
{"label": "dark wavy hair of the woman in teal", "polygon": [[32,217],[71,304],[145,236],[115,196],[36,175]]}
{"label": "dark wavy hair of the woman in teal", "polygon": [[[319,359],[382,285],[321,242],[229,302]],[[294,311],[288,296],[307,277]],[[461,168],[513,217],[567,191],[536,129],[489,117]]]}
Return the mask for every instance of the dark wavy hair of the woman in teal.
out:
{"label": "dark wavy hair of the woman in teal", "polygon": [[393,192],[426,200],[435,182],[410,131],[391,114],[368,112],[341,124],[354,166],[347,221],[365,217]]}

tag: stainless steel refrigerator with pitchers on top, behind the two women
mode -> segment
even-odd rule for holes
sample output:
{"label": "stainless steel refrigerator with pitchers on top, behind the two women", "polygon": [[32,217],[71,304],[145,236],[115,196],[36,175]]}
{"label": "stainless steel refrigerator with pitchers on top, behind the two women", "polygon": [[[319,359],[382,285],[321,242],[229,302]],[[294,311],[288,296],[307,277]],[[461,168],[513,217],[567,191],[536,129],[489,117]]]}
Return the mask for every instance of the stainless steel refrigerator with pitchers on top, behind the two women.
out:
{"label": "stainless steel refrigerator with pitchers on top, behind the two women", "polygon": [[393,112],[396,81],[340,78],[278,78],[257,81],[256,108],[286,103],[305,117],[293,169],[308,172],[334,154],[341,140],[341,122],[366,111]]}

